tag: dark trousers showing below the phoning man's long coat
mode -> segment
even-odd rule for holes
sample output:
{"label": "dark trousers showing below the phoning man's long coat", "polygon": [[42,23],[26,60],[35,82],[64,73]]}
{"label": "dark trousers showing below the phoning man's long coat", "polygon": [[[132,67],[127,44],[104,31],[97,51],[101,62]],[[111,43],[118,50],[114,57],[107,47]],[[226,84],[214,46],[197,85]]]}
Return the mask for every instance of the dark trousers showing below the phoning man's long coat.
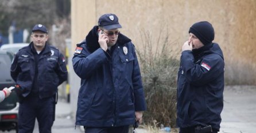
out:
{"label": "dark trousers showing below the phoning man's long coat", "polygon": [[120,127],[84,127],[85,133],[128,133],[128,126]]}

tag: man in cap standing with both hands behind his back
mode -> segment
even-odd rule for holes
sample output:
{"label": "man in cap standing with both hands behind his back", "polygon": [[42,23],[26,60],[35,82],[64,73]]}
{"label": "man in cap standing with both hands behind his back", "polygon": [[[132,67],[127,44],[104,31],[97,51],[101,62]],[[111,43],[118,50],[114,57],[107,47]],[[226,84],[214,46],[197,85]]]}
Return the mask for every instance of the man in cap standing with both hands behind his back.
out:
{"label": "man in cap standing with both hands behind his back", "polygon": [[67,80],[67,68],[63,54],[48,44],[44,25],[35,25],[31,38],[29,46],[20,49],[11,64],[11,77],[20,85],[18,130],[33,132],[37,119],[39,131],[48,133],[55,115],[57,87]]}

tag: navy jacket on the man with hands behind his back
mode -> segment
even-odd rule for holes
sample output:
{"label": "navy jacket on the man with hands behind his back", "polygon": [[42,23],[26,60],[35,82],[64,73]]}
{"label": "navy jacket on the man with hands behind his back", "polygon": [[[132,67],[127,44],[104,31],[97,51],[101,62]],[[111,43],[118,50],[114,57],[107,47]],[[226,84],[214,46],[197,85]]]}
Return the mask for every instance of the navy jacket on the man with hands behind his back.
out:
{"label": "navy jacket on the man with hands behind his back", "polygon": [[[34,52],[36,51],[33,48],[33,42],[30,42],[29,46],[25,46],[15,54],[11,64],[11,77],[21,86],[23,97],[28,96],[32,89],[35,89],[33,87],[38,89],[41,99],[51,97],[57,92],[58,85],[67,80],[68,72],[64,56],[59,49],[47,43],[37,60]],[[38,67],[37,77],[35,77],[36,67]]]}

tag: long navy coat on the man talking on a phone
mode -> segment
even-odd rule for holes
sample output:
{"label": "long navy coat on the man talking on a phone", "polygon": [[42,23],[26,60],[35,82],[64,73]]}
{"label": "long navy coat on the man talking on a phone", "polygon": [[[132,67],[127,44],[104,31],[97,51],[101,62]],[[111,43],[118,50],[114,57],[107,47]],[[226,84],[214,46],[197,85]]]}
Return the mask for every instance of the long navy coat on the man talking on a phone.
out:
{"label": "long navy coat on the man talking on a phone", "polygon": [[[111,54],[98,43],[98,26],[77,44],[73,69],[81,78],[76,125],[117,127],[134,123],[146,109],[141,73],[131,40],[119,34]],[[123,49],[127,48],[127,54]]]}

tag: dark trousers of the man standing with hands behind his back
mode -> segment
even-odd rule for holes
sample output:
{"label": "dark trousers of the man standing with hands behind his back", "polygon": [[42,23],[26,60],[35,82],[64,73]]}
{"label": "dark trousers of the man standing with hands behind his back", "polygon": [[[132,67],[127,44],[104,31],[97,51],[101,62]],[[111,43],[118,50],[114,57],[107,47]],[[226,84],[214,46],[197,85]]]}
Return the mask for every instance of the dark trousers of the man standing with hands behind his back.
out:
{"label": "dark trousers of the man standing with hands behind his back", "polygon": [[29,95],[22,100],[18,111],[18,132],[32,133],[36,119],[40,133],[51,133],[53,125],[54,97],[40,99]]}

